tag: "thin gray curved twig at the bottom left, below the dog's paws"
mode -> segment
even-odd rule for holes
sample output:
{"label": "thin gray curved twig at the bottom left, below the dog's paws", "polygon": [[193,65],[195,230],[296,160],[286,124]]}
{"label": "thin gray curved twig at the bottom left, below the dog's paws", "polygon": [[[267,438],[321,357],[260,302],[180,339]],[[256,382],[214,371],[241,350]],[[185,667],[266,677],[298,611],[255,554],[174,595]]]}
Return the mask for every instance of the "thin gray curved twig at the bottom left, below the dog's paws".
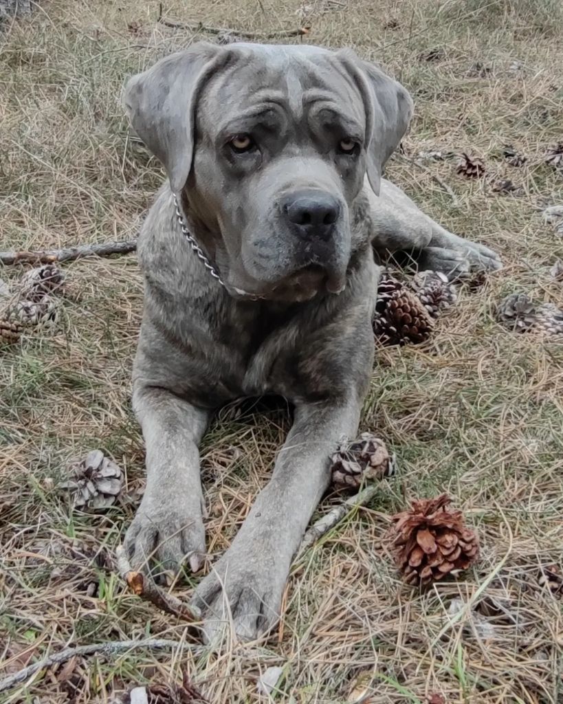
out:
{"label": "thin gray curved twig at the bottom left, below the dog's paws", "polygon": [[5,679],[0,679],[0,692],[11,689],[16,684],[25,681],[28,677],[32,677],[39,670],[44,670],[52,665],[60,665],[61,662],[67,662],[70,658],[84,657],[85,655],[115,655],[123,650],[133,650],[134,648],[197,648],[197,646],[189,645],[183,641],[167,641],[158,638],[146,638],[142,641],[115,641],[115,643],[90,643],[87,646],[77,646],[75,648],[65,648],[58,653],[48,655],[39,662],[34,662],[33,665],[27,665],[23,670],[14,672]]}

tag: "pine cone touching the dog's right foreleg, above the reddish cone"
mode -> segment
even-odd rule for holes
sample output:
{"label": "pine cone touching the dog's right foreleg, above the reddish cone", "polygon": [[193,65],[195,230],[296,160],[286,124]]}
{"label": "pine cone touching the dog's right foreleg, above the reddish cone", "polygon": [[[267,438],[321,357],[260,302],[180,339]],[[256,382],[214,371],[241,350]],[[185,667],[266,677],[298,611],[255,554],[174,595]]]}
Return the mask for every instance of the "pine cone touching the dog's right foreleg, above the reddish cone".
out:
{"label": "pine cone touching the dog's right foreleg, above the reddish cone", "polygon": [[331,457],[332,483],[339,488],[357,489],[367,479],[383,479],[395,473],[393,459],[382,440],[371,433],[342,444]]}

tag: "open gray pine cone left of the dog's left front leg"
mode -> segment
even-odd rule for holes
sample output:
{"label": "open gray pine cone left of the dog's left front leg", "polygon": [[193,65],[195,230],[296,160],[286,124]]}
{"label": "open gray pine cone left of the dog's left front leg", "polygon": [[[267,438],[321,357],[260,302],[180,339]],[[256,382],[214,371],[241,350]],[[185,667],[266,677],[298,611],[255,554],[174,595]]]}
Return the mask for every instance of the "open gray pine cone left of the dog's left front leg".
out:
{"label": "open gray pine cone left of the dog's left front leg", "polygon": [[122,472],[100,450],[92,450],[84,460],[73,463],[70,471],[74,479],[60,486],[70,490],[75,508],[108,508],[117,501],[123,483]]}

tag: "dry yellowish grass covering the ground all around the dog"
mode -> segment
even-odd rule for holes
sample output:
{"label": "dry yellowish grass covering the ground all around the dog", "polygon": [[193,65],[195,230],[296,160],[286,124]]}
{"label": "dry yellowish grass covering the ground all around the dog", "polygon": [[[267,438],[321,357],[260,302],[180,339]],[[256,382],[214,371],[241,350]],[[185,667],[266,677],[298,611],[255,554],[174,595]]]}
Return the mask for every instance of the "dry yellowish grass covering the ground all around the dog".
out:
{"label": "dry yellowish grass covering the ground all around the dog", "polygon": [[[300,7],[296,0],[214,0],[203,9],[170,2],[166,11],[272,30],[301,23]],[[127,141],[120,86],[194,39],[157,25],[157,15],[156,2],[53,0],[39,3],[31,23],[5,25],[0,249],[127,238],[137,230],[161,172]],[[563,303],[562,288],[548,277],[563,241],[538,213],[563,201],[562,175],[541,158],[547,144],[562,141],[562,6],[312,0],[304,15],[312,23],[307,41],[355,46],[412,91],[417,115],[407,153],[470,151],[523,189],[518,198],[493,194],[486,182],[457,177],[452,161],[429,163],[428,173],[395,160],[388,170],[450,229],[498,249],[506,268],[476,294],[462,292],[430,346],[381,353],[362,425],[388,441],[400,475],[295,566],[272,640],[221,655],[188,648],[78,660],[6,693],[6,703],[107,702],[131,684],[178,679],[182,667],[217,704],[344,703],[359,674],[372,704],[421,703],[433,693],[448,704],[563,701],[561,601],[536,581],[541,565],[563,563],[563,345],[512,337],[491,317],[495,301],[517,289]],[[438,60],[419,58],[436,48],[443,49]],[[474,77],[476,62],[490,70]],[[529,155],[523,168],[498,156],[507,142]],[[432,173],[452,187],[459,208]],[[108,563],[134,505],[73,513],[57,491],[68,460],[93,447],[122,464],[128,489],[143,481],[129,406],[141,309],[136,260],[65,270],[81,300],[65,303],[54,332],[30,334],[0,357],[0,678],[69,643],[189,639],[184,624],[125,593]],[[203,444],[215,555],[267,481],[288,425],[283,410],[222,417]],[[441,491],[479,529],[482,560],[460,582],[412,592],[381,536],[405,497]],[[472,608],[450,621],[456,598]],[[491,610],[491,600],[502,608]],[[256,680],[270,665],[283,665],[284,676],[267,698]]]}

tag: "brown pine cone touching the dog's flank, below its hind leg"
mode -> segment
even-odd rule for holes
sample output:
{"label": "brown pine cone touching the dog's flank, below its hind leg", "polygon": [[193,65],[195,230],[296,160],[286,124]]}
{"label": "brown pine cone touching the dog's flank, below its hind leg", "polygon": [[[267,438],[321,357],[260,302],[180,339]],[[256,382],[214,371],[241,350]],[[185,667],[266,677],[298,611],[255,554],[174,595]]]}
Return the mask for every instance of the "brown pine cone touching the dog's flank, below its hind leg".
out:
{"label": "brown pine cone touching the dog's flank, below its hind leg", "polygon": [[385,273],[377,294],[372,322],[379,344],[416,344],[430,337],[434,322],[422,301],[404,284]]}

